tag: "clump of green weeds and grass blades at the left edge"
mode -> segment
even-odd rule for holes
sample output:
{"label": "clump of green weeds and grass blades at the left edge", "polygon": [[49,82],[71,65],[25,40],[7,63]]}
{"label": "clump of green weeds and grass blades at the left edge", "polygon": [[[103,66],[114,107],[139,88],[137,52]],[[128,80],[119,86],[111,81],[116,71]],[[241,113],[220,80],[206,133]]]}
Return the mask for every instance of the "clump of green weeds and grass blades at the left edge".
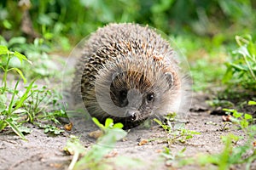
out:
{"label": "clump of green weeds and grass blades at the left edge", "polygon": [[[20,60],[20,64],[27,62],[32,64],[31,61],[26,59],[26,56],[19,52],[12,52],[5,46],[0,46],[0,68],[3,71],[3,86],[0,87],[0,132],[7,126],[20,136],[21,139],[25,139],[22,132],[28,132],[26,127],[23,127],[24,122],[35,122],[35,119],[53,121],[59,123],[56,119],[58,116],[66,116],[65,111],[57,111],[57,100],[55,95],[52,94],[46,87],[38,88],[34,84],[35,80],[32,80],[26,87],[25,92],[18,89],[20,80],[15,82],[15,88],[9,88],[8,77],[10,71],[15,71],[22,78],[24,84],[27,80],[24,77],[23,72],[17,67],[11,67],[9,62],[11,59]],[[20,85],[22,86],[22,85]],[[53,105],[55,111],[47,111],[47,105]],[[60,105],[58,105],[60,106]],[[39,126],[39,124],[38,124]],[[40,126],[39,126],[40,127]],[[41,126],[44,127],[44,126]],[[45,132],[60,132],[57,127],[45,127],[48,129]]]}

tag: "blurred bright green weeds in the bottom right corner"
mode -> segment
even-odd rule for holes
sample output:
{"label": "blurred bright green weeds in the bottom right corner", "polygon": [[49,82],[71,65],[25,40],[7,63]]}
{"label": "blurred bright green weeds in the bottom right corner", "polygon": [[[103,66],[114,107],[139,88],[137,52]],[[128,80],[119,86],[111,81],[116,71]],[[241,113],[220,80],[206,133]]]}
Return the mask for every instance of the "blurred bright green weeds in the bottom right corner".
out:
{"label": "blurred bright green weeds in the bottom right corner", "polygon": [[[249,105],[256,105],[255,101],[250,101]],[[215,165],[219,170],[230,169],[232,166],[243,164],[245,169],[249,170],[251,164],[256,160],[256,125],[252,124],[253,116],[240,113],[236,110],[228,110],[227,114],[233,113],[231,122],[241,129],[246,134],[246,142],[241,145],[237,145],[240,139],[244,139],[243,136],[237,136],[233,133],[229,133],[222,137],[224,143],[224,150],[218,154],[205,155],[200,154],[195,158],[180,161],[180,165],[198,164],[200,166],[207,166],[209,164]]]}

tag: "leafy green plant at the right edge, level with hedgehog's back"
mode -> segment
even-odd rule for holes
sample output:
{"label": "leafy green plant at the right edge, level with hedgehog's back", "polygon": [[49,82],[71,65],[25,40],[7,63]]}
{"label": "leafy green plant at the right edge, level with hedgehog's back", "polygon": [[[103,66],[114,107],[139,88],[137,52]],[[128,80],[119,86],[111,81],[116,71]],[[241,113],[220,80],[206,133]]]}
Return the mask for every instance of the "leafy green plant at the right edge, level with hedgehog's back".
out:
{"label": "leafy green plant at the right edge, level with hedgehog's back", "polygon": [[226,63],[223,82],[240,86],[252,91],[256,90],[256,43],[249,35],[236,36],[238,48],[233,51],[232,59]]}

